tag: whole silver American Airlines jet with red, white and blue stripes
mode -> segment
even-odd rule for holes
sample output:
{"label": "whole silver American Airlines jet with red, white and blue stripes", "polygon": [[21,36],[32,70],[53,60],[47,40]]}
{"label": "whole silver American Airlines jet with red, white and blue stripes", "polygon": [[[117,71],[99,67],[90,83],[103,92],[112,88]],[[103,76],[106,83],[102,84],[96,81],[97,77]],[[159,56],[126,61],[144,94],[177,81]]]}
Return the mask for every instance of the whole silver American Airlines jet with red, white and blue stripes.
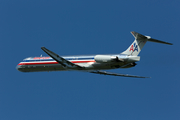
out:
{"label": "whole silver American Airlines jet with red, white and blue stripes", "polygon": [[41,56],[25,58],[17,65],[16,69],[21,72],[75,70],[102,75],[149,78],[144,76],[103,71],[117,68],[131,68],[136,66],[136,62],[140,61],[140,56],[138,56],[138,54],[147,41],[172,45],[172,43],[156,40],[151,38],[150,36],[144,36],[135,31],[132,31],[131,34],[135,38],[134,42],[129,46],[127,50],[120,54],[59,56],[58,54],[48,50],[47,48],[41,47],[41,49],[49,55],[48,57]]}

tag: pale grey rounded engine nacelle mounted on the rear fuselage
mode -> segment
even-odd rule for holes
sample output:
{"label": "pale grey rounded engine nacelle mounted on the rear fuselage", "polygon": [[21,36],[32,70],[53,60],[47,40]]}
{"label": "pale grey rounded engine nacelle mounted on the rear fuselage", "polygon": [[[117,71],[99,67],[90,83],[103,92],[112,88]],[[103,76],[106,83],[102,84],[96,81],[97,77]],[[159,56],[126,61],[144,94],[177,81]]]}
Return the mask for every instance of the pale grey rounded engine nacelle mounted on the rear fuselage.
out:
{"label": "pale grey rounded engine nacelle mounted on the rear fuselage", "polygon": [[94,60],[96,62],[114,62],[116,60],[116,56],[111,56],[111,55],[96,55],[94,57]]}

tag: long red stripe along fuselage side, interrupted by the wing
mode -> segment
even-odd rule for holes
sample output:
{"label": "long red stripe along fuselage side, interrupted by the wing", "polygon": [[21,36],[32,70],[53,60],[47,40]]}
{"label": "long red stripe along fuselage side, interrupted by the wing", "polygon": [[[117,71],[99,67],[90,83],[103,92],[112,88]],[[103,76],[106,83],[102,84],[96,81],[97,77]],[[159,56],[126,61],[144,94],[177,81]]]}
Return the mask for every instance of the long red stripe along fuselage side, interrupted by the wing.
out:
{"label": "long red stripe along fuselage side, interrupted by the wing", "polygon": [[[71,61],[72,63],[88,63],[88,62],[95,62],[94,60],[88,60],[88,61]],[[25,62],[25,63],[19,63],[18,65],[42,65],[42,64],[59,64],[58,62]]]}

